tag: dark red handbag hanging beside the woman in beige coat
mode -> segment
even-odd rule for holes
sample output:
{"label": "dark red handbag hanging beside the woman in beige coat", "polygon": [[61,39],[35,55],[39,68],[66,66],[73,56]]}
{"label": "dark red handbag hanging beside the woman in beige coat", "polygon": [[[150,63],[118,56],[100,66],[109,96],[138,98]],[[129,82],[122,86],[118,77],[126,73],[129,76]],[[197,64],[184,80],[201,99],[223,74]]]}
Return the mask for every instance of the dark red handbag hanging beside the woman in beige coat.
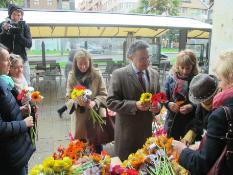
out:
{"label": "dark red handbag hanging beside the woman in beige coat", "polygon": [[[88,128],[91,128],[87,132],[87,137],[88,141],[93,145],[107,144],[114,140],[115,116],[109,116],[106,107],[101,107],[99,109],[99,114],[103,117],[106,124],[103,124],[101,128],[98,123],[93,125],[93,123],[89,122]],[[95,132],[95,134],[91,132]]]}

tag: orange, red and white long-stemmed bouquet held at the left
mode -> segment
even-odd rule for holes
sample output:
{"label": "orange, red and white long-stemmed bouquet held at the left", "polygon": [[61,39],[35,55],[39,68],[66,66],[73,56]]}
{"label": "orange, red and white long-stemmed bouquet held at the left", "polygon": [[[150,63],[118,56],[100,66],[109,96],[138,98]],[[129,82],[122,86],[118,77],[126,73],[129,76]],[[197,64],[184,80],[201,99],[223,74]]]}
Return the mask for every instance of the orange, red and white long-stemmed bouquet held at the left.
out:
{"label": "orange, red and white long-stemmed bouquet held at the left", "polygon": [[[26,86],[17,96],[17,100],[19,100],[22,105],[27,105],[29,109],[28,115],[31,115],[31,105],[30,102],[33,102],[35,105],[38,102],[41,102],[44,97],[40,95],[39,91],[34,91],[33,87]],[[30,137],[32,140],[32,144],[35,145],[35,138],[37,136],[37,118],[36,115],[33,116],[34,127],[30,128]]]}

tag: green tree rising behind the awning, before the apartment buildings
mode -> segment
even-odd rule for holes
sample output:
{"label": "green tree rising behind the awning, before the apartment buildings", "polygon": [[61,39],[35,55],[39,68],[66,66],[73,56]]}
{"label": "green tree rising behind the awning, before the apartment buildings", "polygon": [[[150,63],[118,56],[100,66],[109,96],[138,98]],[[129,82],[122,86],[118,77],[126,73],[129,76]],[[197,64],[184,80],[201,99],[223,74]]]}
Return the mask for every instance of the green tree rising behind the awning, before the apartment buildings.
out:
{"label": "green tree rising behind the awning, before the apartment buildings", "polygon": [[156,15],[177,15],[180,0],[140,0],[139,7],[133,12]]}

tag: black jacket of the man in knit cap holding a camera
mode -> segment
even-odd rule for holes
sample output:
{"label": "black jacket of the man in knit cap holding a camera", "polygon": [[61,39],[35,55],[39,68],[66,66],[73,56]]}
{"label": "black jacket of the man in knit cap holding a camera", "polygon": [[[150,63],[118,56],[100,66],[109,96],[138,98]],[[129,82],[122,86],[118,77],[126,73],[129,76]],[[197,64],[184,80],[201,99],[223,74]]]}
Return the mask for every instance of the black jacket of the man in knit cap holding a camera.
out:
{"label": "black jacket of the man in knit cap holding a camera", "polygon": [[2,32],[0,43],[4,44],[10,53],[20,55],[24,61],[27,61],[26,48],[32,47],[32,37],[28,25],[23,23],[22,26],[23,31],[19,34],[7,34],[6,32],[2,32],[2,28],[0,27],[0,33]]}

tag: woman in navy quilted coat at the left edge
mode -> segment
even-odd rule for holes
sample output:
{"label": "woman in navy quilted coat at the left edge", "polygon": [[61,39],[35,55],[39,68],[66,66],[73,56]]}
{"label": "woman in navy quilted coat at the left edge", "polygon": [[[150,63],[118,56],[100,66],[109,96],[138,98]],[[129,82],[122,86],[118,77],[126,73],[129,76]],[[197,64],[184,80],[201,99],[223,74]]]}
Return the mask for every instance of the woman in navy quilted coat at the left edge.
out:
{"label": "woman in navy quilted coat at the left edge", "polygon": [[[9,57],[8,51],[0,47],[0,75],[9,73]],[[33,118],[23,119],[11,88],[0,79],[0,174],[26,174],[25,167],[35,151],[28,134],[31,127]]]}

